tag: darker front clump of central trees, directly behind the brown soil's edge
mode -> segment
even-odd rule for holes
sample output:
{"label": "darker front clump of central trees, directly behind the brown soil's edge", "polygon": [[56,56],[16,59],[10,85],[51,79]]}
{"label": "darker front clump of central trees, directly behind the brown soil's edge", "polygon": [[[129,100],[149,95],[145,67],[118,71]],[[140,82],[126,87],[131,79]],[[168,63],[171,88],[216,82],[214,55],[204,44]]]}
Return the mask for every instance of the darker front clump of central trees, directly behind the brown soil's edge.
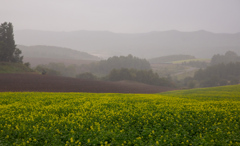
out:
{"label": "darker front clump of central trees, directly behind the brown soil's edge", "polygon": [[159,78],[157,73],[152,70],[135,70],[135,69],[113,69],[108,75],[110,81],[130,80],[140,83],[157,85],[157,86],[173,86],[166,78]]}

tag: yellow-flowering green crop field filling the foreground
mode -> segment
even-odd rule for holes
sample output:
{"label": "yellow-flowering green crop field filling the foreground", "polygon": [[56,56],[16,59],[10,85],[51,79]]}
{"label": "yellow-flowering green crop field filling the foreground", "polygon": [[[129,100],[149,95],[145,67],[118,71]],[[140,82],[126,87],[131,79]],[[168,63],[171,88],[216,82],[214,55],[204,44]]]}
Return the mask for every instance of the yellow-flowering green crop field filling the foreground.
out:
{"label": "yellow-flowering green crop field filling the foreground", "polygon": [[0,93],[0,145],[240,145],[240,85]]}

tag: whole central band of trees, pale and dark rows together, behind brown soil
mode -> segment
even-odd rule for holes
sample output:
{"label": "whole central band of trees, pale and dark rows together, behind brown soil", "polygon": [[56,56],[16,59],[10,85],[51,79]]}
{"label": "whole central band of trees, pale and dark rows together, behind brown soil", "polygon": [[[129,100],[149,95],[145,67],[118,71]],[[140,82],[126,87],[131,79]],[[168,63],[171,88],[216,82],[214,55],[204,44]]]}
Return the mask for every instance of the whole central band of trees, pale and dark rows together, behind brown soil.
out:
{"label": "whole central band of trees, pale and dark rows together, behind brown soil", "polygon": [[114,56],[107,60],[81,66],[49,63],[48,65],[38,65],[35,70],[42,74],[63,75],[88,80],[130,80],[157,86],[174,86],[169,79],[160,78],[157,73],[154,73],[147,60],[132,55]]}

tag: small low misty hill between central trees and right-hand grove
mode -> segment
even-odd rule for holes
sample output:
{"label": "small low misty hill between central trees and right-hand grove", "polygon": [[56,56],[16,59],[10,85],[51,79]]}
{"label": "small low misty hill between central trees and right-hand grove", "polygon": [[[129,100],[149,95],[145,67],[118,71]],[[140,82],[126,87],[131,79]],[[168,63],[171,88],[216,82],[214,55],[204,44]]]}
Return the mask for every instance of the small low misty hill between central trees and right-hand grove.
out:
{"label": "small low misty hill between central trees and right-hand grove", "polygon": [[150,63],[168,63],[168,62],[188,60],[188,59],[195,59],[195,57],[191,55],[169,55],[169,56],[152,58],[152,59],[149,59],[148,61]]}

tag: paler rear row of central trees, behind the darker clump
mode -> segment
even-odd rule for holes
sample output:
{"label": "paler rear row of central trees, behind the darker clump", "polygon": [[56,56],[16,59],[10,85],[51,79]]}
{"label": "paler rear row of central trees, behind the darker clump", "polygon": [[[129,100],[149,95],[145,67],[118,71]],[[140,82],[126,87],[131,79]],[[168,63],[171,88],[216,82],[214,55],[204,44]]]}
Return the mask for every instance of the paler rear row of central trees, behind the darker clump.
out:
{"label": "paler rear row of central trees, behind the darker clump", "polygon": [[[150,70],[150,63],[146,59],[140,59],[132,55],[128,56],[114,56],[107,60],[93,62],[91,64],[83,65],[70,65],[66,66],[63,63],[49,63],[47,65],[38,65],[36,69],[41,72],[42,70],[49,70],[47,74],[61,74],[63,76],[75,77],[78,74],[90,72],[99,77],[108,75],[113,69],[121,68],[134,68],[137,70]],[[53,72],[55,70],[56,72]]]}

